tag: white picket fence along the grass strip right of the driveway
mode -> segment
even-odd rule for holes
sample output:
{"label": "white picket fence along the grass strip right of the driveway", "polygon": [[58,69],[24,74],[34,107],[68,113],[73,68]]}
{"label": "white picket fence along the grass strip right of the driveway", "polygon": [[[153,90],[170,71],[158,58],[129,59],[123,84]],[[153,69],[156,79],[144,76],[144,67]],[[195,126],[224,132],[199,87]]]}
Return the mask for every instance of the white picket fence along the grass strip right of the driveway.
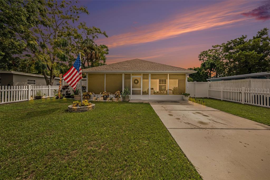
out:
{"label": "white picket fence along the grass strip right of the driveway", "polygon": [[209,87],[208,97],[270,108],[269,89]]}

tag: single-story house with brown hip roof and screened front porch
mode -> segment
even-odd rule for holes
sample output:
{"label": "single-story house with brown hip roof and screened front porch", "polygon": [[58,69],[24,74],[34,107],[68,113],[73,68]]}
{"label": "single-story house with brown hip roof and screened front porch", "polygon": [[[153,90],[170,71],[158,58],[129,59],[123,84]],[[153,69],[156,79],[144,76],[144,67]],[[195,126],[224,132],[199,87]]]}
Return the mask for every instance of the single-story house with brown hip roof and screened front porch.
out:
{"label": "single-story house with brown hip roof and screened front porch", "polygon": [[187,75],[197,71],[132,59],[83,69],[86,90],[115,93],[128,87],[131,99],[181,100],[187,91]]}

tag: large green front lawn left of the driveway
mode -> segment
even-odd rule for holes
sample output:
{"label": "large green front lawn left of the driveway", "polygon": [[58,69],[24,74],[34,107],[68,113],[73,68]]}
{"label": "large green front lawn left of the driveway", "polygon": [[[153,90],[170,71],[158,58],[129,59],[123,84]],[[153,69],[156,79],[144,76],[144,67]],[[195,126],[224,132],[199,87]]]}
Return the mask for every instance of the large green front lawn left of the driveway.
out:
{"label": "large green front lawn left of the driveway", "polygon": [[70,104],[0,106],[0,179],[201,179],[149,104]]}

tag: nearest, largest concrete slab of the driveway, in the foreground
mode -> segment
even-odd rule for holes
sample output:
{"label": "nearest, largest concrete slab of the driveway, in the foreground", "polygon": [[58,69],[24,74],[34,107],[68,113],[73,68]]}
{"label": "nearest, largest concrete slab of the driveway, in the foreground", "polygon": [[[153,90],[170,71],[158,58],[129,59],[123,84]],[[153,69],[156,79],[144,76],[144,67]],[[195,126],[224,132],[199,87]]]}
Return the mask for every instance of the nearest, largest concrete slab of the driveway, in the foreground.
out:
{"label": "nearest, largest concrete slab of the driveway, in the foreground", "polygon": [[269,179],[270,131],[169,129],[203,179]]}

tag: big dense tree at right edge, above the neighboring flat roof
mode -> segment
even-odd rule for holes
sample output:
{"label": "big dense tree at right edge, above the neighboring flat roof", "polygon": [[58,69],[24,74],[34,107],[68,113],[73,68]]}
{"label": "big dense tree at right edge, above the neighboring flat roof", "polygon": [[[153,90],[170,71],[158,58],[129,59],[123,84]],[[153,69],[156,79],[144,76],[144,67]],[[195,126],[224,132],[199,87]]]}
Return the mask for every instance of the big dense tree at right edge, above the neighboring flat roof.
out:
{"label": "big dense tree at right edge, above the neighboring flat roof", "polygon": [[270,70],[269,29],[260,30],[252,39],[242,36],[220,45],[223,48],[227,76]]}

